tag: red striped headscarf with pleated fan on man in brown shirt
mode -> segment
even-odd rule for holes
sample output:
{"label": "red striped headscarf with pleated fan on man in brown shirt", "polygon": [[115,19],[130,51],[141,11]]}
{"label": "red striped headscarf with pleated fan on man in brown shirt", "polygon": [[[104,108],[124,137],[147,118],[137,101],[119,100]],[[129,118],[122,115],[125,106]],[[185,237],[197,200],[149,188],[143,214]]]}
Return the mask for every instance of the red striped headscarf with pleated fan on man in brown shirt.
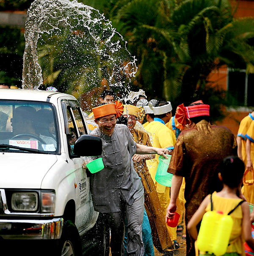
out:
{"label": "red striped headscarf with pleated fan on man in brown shirt", "polygon": [[[198,105],[192,105],[198,104]],[[209,110],[210,106],[204,104],[202,100],[195,101],[191,103],[192,106],[185,107],[181,104],[177,107],[176,119],[182,125],[187,125],[189,123],[188,118],[210,116]]]}

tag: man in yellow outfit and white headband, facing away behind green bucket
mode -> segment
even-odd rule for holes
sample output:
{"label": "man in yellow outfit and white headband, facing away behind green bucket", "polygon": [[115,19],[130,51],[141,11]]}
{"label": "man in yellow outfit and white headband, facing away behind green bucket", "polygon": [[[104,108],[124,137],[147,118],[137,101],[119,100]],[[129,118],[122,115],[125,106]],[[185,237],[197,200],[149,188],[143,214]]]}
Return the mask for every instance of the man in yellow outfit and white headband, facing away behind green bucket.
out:
{"label": "man in yellow outfit and white headband, facing away behind green bucket", "polygon": [[[159,101],[155,107],[153,107],[154,111],[154,121],[150,122],[146,125],[145,129],[152,135],[152,145],[153,147],[159,148],[167,148],[172,150],[176,143],[176,137],[168,127],[166,127],[166,123],[172,117],[171,111],[172,106],[168,101]],[[152,176],[153,181],[155,182],[157,194],[160,200],[160,205],[163,211],[166,213],[166,209],[168,203],[170,201],[170,188],[167,186],[163,186],[155,181],[155,173],[157,170],[157,166],[159,163],[159,157],[156,156],[155,159],[146,160],[147,167]],[[174,241],[174,247],[177,249],[179,245],[177,243],[177,228],[169,228],[168,231],[171,234],[171,238]]]}

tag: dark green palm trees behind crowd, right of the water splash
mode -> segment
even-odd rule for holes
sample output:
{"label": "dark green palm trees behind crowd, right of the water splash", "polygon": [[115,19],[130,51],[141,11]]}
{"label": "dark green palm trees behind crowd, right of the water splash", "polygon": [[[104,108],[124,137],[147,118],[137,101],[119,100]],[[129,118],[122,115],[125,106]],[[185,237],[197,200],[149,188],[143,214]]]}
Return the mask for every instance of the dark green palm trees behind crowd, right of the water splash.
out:
{"label": "dark green palm trees behind crowd, right of the water splash", "polygon": [[253,71],[254,20],[234,19],[229,0],[111,0],[100,8],[138,59],[137,84],[174,106],[221,102],[224,92],[207,78],[225,64]]}

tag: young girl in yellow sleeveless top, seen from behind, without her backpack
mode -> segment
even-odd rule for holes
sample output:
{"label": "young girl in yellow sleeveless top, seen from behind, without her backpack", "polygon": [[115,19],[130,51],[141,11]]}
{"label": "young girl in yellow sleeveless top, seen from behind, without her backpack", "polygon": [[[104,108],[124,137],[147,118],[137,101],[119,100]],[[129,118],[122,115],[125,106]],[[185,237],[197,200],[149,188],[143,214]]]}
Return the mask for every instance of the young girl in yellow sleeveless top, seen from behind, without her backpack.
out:
{"label": "young girl in yellow sleeveless top, seen from behind, without her backpack", "polygon": [[233,227],[229,245],[224,254],[228,256],[245,255],[244,241],[254,250],[249,206],[239,197],[244,171],[244,163],[237,156],[224,158],[221,164],[221,172],[218,174],[223,183],[223,189],[220,192],[207,195],[187,225],[189,234],[196,240],[198,237],[197,226],[207,211],[215,210],[230,215],[233,220]]}

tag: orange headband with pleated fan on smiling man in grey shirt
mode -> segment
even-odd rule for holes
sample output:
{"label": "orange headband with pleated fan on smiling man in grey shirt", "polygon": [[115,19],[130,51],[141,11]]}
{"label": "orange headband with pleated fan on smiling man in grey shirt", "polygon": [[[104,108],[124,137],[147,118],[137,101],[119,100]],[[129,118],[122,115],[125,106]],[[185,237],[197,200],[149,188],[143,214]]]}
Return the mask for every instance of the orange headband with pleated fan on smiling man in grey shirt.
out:
{"label": "orange headband with pleated fan on smiling man in grey shirt", "polygon": [[105,104],[96,108],[93,108],[94,119],[100,117],[106,117],[108,115],[115,114],[116,118],[120,117],[123,113],[123,105],[120,101],[116,100],[115,103]]}

